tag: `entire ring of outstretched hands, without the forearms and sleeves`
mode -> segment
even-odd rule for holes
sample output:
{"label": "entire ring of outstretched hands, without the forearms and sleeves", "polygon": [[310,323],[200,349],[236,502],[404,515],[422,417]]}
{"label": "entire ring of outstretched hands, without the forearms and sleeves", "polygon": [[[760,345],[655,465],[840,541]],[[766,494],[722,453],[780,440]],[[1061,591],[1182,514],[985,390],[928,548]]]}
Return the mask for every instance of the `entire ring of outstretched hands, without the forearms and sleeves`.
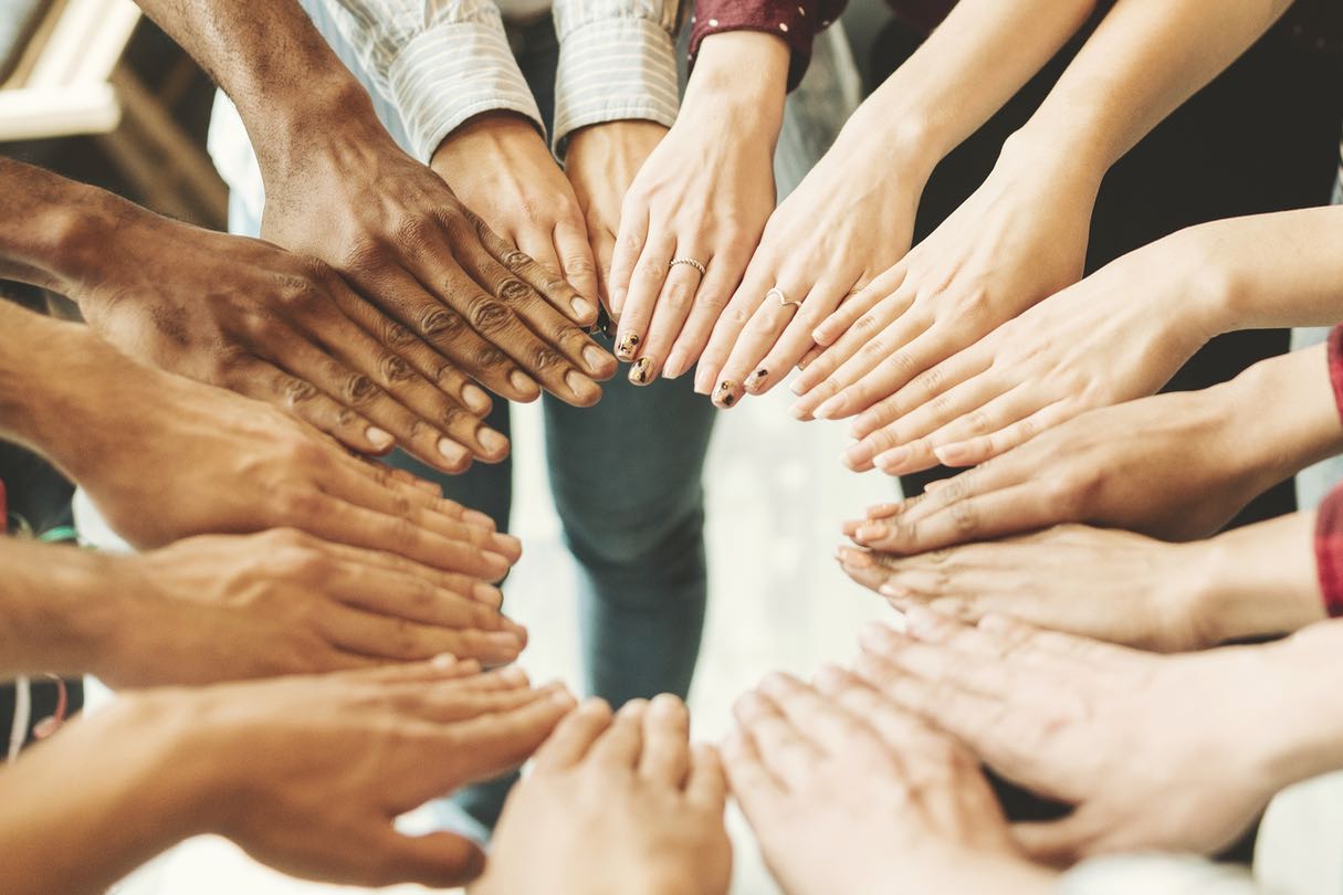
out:
{"label": "entire ring of outstretched hands, without the forearms and sleeves", "polygon": [[[1194,547],[1155,538],[1214,531],[1264,482],[1179,462],[1193,440],[1234,439],[1209,394],[1131,400],[1197,348],[1125,290],[1162,259],[1080,280],[1093,189],[1010,152],[912,248],[916,164],[873,189],[846,176],[851,152],[833,153],[775,208],[771,144],[689,165],[686,134],[731,110],[686,109],[670,131],[580,131],[563,170],[506,114],[473,119],[430,166],[371,136],[376,176],[325,176],[318,154],[267,180],[266,242],[132,216],[172,268],[124,264],[73,290],[94,330],[160,368],[118,382],[121,401],[156,408],[154,436],[64,463],[148,550],[106,560],[109,574],[144,607],[208,616],[140,631],[152,667],[99,671],[129,686],[326,672],[210,690],[183,735],[247,754],[218,792],[282,781],[271,810],[224,798],[210,828],[298,875],[510,894],[556,879],[723,892],[729,792],[794,894],[1042,890],[1049,867],[1091,855],[1234,840],[1275,781],[1211,733],[1176,731],[1260,663],[1138,648],[1223,639],[1172,593]],[[1116,348],[1133,339],[1144,350]],[[483,671],[526,644],[496,586],[521,545],[368,459],[399,445],[447,472],[500,462],[490,393],[587,407],[618,362],[637,386],[694,369],[724,409],[800,368],[790,412],[850,419],[850,468],[968,468],[845,526],[842,569],[905,629],[865,631],[854,662],[811,682],[767,678],[719,749],[692,747],[674,696],[612,715]],[[118,456],[171,472],[184,496],[164,505]],[[128,696],[82,735],[176,725],[176,698]],[[77,754],[71,734],[59,742]],[[533,753],[488,863],[465,839],[392,827]],[[984,765],[1070,813],[1010,824]],[[1172,793],[1183,776],[1218,782]]]}

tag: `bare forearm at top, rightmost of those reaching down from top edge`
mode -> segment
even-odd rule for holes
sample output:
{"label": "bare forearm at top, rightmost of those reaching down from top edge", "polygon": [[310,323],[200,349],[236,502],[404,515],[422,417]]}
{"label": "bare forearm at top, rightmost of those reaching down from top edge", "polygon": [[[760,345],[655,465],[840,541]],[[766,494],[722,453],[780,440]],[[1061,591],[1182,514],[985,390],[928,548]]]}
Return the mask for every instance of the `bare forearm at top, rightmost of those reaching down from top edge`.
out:
{"label": "bare forearm at top, rightmost of those reaching down from top edge", "polygon": [[1104,172],[1253,44],[1289,0],[1120,0],[1011,141]]}

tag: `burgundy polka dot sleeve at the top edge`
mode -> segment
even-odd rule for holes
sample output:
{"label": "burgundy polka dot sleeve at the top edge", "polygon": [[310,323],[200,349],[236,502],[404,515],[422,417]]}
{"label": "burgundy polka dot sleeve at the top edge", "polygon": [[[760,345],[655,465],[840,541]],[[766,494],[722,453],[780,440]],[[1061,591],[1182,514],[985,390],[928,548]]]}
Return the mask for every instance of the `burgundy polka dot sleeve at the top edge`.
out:
{"label": "burgundy polka dot sleeve at the top edge", "polygon": [[690,66],[700,42],[723,31],[760,31],[782,38],[792,52],[788,90],[802,82],[811,42],[843,12],[847,0],[696,0],[690,16]]}

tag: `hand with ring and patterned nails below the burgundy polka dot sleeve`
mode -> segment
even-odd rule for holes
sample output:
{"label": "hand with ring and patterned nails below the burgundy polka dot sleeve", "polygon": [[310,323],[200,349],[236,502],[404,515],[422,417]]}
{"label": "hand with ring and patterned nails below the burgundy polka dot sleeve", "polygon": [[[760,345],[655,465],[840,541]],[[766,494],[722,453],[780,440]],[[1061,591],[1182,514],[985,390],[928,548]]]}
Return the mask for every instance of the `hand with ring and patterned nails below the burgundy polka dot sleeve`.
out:
{"label": "hand with ring and patterned nails below the burgundy polka dot sleeve", "polygon": [[[772,35],[705,38],[676,125],[624,196],[611,311],[637,385],[689,370],[741,282],[774,211],[787,70],[788,47]],[[682,258],[705,272],[672,264]]]}

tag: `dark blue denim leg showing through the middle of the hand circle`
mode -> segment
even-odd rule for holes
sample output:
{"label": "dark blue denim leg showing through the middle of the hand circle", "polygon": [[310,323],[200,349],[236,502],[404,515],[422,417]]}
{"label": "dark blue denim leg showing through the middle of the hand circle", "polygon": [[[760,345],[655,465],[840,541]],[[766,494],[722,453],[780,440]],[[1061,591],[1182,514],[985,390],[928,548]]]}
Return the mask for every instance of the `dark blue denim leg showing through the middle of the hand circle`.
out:
{"label": "dark blue denim leg showing through the middle of the hand circle", "polygon": [[619,376],[594,408],[545,397],[547,460],[579,565],[588,692],[612,706],[690,690],[708,573],[701,474],[714,409],[692,380]]}

